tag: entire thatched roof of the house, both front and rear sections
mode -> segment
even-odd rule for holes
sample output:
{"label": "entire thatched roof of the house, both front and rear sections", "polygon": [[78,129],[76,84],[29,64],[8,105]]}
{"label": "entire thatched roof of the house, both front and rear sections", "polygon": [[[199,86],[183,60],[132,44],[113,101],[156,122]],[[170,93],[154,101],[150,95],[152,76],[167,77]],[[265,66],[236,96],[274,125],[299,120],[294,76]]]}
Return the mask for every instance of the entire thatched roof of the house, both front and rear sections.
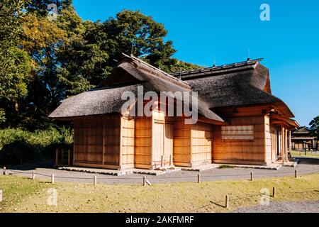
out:
{"label": "entire thatched roof of the house, both front and rear sections", "polygon": [[80,116],[96,116],[120,113],[125,101],[125,91],[138,94],[138,86],[144,92],[198,92],[198,113],[213,121],[223,123],[214,108],[225,106],[249,106],[273,104],[292,117],[288,106],[271,94],[269,70],[250,60],[233,65],[211,67],[169,75],[137,57],[124,55],[110,77],[96,89],[62,101],[50,114],[50,118],[72,119]]}

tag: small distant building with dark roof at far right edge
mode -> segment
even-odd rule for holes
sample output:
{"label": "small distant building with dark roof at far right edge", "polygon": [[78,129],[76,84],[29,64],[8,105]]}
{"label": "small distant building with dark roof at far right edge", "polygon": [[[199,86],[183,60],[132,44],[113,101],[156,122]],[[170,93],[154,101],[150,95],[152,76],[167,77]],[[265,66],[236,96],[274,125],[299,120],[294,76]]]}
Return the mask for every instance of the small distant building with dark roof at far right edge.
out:
{"label": "small distant building with dark roof at far right edge", "polygon": [[300,127],[291,133],[291,145],[293,150],[315,149],[317,141],[315,136],[311,136],[309,128]]}

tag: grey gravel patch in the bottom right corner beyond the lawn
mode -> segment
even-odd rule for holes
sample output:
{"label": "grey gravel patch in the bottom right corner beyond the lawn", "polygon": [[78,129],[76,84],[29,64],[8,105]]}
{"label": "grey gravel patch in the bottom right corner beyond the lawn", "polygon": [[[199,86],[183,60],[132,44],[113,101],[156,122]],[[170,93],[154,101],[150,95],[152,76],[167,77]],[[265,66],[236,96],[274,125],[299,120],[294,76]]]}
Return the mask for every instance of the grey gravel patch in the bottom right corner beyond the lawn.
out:
{"label": "grey gravel patch in the bottom right corner beyond the lawn", "polygon": [[234,213],[319,213],[319,201],[280,201],[269,206],[237,209]]}

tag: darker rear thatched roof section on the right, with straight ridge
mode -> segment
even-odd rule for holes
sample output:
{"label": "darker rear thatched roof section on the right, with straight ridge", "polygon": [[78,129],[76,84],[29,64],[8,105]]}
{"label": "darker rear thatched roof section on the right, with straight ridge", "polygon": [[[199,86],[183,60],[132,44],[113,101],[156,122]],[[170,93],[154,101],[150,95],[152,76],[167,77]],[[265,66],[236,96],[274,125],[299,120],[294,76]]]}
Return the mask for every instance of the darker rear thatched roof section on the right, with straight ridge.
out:
{"label": "darker rear thatched roof section on the right, with straight ridge", "polygon": [[272,104],[285,116],[294,117],[284,101],[272,95],[269,70],[260,60],[179,72],[174,76],[205,97],[210,109]]}

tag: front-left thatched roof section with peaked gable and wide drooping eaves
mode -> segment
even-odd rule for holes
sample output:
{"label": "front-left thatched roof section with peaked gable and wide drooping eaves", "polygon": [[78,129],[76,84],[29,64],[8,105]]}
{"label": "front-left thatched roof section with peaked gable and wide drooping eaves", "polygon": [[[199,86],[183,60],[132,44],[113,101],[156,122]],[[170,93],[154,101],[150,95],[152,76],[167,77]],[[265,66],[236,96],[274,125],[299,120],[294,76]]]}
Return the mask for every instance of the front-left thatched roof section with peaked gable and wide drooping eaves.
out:
{"label": "front-left thatched roof section with peaked gable and wide drooping eaves", "polygon": [[[140,85],[143,86],[144,93],[192,91],[186,82],[136,57],[125,55],[113,74],[99,88],[65,99],[49,117],[72,119],[79,116],[120,113],[121,106],[126,102],[121,100],[123,92],[133,92],[137,96]],[[199,97],[198,114],[216,122],[224,122],[223,118],[208,107],[208,103]]]}

